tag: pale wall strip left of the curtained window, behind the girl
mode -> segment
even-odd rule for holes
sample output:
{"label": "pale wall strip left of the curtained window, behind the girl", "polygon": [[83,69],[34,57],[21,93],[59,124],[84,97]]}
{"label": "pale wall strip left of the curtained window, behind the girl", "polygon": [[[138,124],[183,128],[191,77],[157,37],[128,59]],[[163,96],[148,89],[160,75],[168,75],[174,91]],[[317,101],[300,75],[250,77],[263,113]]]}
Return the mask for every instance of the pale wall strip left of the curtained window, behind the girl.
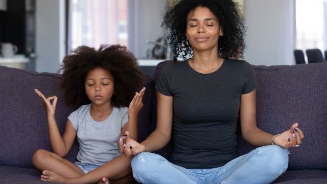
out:
{"label": "pale wall strip left of the curtained window, behind the girl", "polygon": [[36,0],[37,72],[56,73],[59,70],[64,53],[63,16],[64,0]]}

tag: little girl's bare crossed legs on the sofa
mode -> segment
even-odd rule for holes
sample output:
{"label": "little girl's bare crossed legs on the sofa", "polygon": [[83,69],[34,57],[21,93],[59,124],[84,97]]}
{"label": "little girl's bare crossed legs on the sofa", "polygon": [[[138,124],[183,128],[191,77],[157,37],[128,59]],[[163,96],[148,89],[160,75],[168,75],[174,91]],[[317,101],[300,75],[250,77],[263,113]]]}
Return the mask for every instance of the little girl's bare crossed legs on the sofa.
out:
{"label": "little girl's bare crossed legs on the sofa", "polygon": [[[41,180],[66,183],[105,183],[103,176],[110,179],[110,183],[130,183],[131,176],[130,159],[120,155],[109,163],[84,174],[74,163],[60,157],[58,154],[37,150],[32,158],[33,165],[42,171]],[[120,167],[113,167],[113,165]],[[129,168],[126,170],[126,168]]]}

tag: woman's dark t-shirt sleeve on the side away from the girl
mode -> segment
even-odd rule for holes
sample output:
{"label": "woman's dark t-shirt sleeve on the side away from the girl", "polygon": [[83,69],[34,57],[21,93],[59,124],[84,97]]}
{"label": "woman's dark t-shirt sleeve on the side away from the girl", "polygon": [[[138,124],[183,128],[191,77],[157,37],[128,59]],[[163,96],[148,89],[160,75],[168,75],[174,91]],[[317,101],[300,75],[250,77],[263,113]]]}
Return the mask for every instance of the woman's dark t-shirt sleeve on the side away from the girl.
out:
{"label": "woman's dark t-shirt sleeve on the side away from the girl", "polygon": [[258,87],[258,83],[256,82],[255,74],[253,67],[250,63],[244,61],[244,89],[242,94],[248,94],[253,91],[256,87]]}

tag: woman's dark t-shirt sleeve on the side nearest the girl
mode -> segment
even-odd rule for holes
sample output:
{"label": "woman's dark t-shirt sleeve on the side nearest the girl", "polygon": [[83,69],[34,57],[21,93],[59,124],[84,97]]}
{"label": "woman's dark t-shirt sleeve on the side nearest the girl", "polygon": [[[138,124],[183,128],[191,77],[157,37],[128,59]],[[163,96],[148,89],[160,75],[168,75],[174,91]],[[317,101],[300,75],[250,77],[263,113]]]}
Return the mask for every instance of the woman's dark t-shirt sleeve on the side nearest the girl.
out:
{"label": "woman's dark t-shirt sleeve on the side nearest the girl", "polygon": [[167,64],[162,68],[162,72],[159,76],[159,79],[155,85],[155,89],[157,89],[162,95],[165,96],[172,96],[172,93],[170,91],[170,86],[172,82],[171,73],[169,70],[169,65]]}

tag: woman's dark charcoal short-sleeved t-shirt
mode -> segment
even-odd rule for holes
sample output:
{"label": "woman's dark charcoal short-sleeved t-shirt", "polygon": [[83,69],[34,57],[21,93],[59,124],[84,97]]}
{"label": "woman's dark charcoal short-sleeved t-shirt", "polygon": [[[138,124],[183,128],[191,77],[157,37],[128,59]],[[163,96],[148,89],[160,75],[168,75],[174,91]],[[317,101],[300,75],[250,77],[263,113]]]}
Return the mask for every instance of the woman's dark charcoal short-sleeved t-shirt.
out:
{"label": "woman's dark charcoal short-sleeved t-shirt", "polygon": [[196,72],[188,60],[164,66],[155,87],[173,96],[171,162],[208,169],[236,158],[240,97],[257,86],[246,61],[224,59],[210,74]]}

